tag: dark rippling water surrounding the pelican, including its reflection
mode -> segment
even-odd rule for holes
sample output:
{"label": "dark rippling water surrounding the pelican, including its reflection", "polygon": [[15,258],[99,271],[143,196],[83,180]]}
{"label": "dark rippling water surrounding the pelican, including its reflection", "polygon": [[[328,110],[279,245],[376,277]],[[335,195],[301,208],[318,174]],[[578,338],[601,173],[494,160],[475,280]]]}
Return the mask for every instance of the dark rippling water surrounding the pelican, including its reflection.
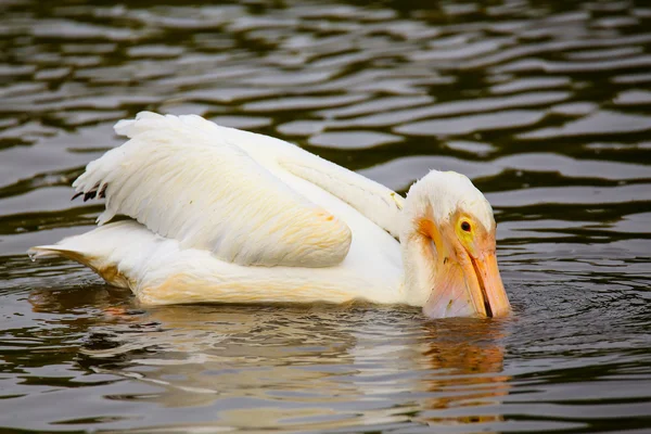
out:
{"label": "dark rippling water surrounding the pelican, including its reflection", "polygon": [[[339,0],[337,0],[339,1]],[[643,1],[0,4],[3,432],[651,432]],[[82,167],[141,110],[493,203],[514,315],[143,308],[25,251],[88,230]]]}

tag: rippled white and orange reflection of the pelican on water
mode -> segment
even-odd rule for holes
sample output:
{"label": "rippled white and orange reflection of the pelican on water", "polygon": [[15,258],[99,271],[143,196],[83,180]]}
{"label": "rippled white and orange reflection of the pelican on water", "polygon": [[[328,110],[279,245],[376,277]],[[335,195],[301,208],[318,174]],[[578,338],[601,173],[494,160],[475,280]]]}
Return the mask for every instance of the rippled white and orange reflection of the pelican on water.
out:
{"label": "rippled white and orange reflection of the pelican on water", "polygon": [[155,411],[201,408],[210,429],[436,426],[499,420],[482,406],[508,390],[501,334],[411,308],[164,306],[95,322],[79,363],[155,386],[138,396]]}

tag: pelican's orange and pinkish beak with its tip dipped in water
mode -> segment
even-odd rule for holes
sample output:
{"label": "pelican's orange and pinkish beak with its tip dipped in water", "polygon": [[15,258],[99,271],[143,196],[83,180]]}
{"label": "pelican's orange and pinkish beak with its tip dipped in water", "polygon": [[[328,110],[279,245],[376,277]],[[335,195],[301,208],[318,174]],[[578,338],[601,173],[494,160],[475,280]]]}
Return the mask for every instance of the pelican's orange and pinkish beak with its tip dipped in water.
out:
{"label": "pelican's orange and pinkish beak with its tip dipped in water", "polygon": [[462,248],[460,254],[439,259],[432,294],[423,306],[426,316],[503,317],[509,311],[494,248],[476,256]]}

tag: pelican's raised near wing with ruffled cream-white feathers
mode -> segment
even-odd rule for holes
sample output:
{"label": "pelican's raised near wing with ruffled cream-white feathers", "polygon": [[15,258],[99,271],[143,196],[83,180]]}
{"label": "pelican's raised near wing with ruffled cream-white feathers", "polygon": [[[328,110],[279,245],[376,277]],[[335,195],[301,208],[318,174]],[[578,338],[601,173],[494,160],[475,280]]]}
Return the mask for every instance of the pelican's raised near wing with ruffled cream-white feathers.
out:
{"label": "pelican's raised near wing with ruffled cream-white feathers", "polygon": [[348,227],[272,175],[200,116],[143,112],[115,130],[130,140],[73,183],[106,197],[98,218],[135,218],[186,248],[240,265],[327,267],[348,253]]}

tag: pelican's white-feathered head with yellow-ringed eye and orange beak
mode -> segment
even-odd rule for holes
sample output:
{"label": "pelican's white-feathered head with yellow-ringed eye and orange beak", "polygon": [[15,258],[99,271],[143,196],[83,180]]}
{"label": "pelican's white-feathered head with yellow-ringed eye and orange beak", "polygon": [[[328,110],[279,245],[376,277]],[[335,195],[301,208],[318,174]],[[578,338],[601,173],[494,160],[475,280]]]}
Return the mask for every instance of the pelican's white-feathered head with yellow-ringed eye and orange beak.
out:
{"label": "pelican's white-feathered head with yellow-ringed eye and orange beak", "polygon": [[493,208],[470,179],[432,170],[409,189],[400,224],[410,303],[432,318],[502,317]]}

